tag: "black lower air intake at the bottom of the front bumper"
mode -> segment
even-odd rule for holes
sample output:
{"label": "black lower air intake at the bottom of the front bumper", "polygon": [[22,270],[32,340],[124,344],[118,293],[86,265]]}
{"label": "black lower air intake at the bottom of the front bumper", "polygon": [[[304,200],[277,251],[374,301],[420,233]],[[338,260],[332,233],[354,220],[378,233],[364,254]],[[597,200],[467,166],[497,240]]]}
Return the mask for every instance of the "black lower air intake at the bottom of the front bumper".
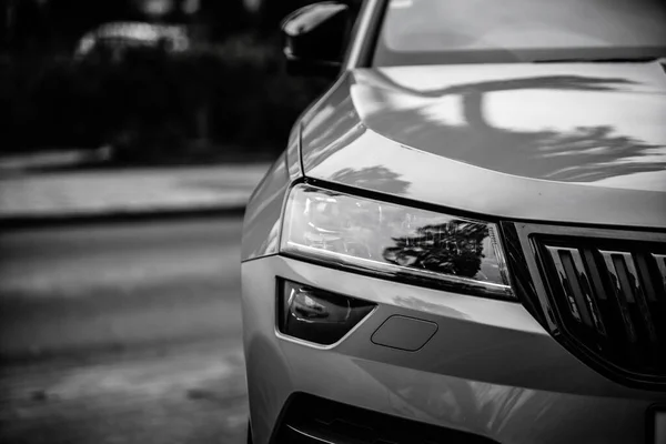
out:
{"label": "black lower air intake at the bottom of the front bumper", "polygon": [[437,427],[341,404],[293,395],[274,444],[497,444],[471,433]]}

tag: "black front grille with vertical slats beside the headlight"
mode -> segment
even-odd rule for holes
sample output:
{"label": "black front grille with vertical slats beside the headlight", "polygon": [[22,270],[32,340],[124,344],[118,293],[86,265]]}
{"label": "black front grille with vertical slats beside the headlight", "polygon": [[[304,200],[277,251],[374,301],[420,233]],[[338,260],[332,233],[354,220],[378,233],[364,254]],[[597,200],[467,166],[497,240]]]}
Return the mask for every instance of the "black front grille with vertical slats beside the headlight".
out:
{"label": "black front grille with vertical slats beside the headlight", "polygon": [[559,334],[616,374],[666,383],[660,242],[536,238]]}

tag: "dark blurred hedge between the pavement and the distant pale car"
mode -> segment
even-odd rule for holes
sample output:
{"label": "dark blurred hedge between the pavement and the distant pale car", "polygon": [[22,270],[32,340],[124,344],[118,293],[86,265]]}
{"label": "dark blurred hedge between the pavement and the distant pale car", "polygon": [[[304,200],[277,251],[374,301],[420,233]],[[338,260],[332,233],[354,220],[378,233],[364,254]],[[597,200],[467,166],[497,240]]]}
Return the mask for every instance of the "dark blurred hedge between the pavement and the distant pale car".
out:
{"label": "dark blurred hedge between the pavement and the distant pale car", "polygon": [[112,145],[129,162],[234,149],[273,155],[329,83],[287,75],[279,44],[253,34],[180,54],[0,64],[2,152]]}

